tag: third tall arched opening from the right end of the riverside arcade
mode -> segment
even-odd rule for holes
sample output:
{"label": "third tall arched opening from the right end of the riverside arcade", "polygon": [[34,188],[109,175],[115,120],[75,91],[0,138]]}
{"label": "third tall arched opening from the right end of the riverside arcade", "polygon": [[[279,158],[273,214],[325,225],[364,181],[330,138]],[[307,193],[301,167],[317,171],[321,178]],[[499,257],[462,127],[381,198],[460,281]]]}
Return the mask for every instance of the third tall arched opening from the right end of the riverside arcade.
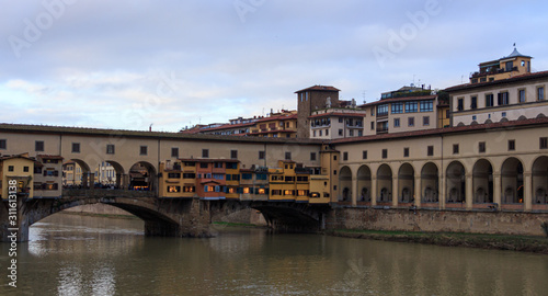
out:
{"label": "third tall arched opening from the right end of the riverside arcade", "polygon": [[472,169],[473,203],[493,202],[493,167],[486,159],[476,161]]}

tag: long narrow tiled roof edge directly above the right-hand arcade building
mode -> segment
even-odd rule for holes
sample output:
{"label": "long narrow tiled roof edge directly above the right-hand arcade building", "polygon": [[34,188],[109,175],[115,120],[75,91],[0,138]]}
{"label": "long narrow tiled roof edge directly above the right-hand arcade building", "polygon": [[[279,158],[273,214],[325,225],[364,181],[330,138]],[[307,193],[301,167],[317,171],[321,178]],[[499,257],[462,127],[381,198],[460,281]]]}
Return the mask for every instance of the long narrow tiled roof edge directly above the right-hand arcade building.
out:
{"label": "long narrow tiled roof edge directly above the right-hand arcade building", "polygon": [[541,125],[548,124],[548,117],[544,118],[532,118],[524,121],[509,121],[503,123],[491,123],[491,124],[477,124],[477,125],[464,125],[464,126],[455,126],[455,127],[445,127],[445,128],[432,128],[432,129],[422,129],[414,132],[403,132],[403,133],[391,133],[391,134],[383,134],[383,135],[373,135],[373,136],[363,136],[363,137],[353,137],[353,138],[340,138],[334,139],[332,144],[344,144],[344,143],[356,143],[356,141],[375,141],[375,140],[384,140],[384,139],[400,139],[400,138],[409,138],[409,137],[420,137],[420,136],[434,136],[434,135],[449,135],[456,133],[465,133],[465,132],[478,132],[478,130],[488,130],[488,129],[509,129],[509,128],[517,128],[528,125]]}

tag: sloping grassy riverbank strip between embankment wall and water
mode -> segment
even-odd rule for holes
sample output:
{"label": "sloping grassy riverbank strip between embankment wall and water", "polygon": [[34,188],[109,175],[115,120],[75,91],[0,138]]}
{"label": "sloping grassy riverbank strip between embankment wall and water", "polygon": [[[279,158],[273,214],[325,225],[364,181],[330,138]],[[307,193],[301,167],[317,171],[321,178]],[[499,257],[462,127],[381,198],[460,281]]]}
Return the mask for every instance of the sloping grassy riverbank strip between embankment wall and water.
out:
{"label": "sloping grassy riverbank strip between embankment wall and water", "polygon": [[468,247],[548,254],[548,238],[459,232],[415,232],[338,229],[327,231],[334,237],[415,242],[445,247]]}

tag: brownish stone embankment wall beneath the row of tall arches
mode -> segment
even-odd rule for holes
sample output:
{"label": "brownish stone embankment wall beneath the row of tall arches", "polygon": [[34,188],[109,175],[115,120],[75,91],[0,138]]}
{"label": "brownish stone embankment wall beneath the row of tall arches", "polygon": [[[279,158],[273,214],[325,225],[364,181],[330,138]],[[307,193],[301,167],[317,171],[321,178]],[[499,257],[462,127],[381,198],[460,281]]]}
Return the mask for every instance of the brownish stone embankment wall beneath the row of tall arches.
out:
{"label": "brownish stone embankment wall beneath the row of tall arches", "polygon": [[548,214],[349,207],[331,210],[326,228],[544,236],[544,221]]}

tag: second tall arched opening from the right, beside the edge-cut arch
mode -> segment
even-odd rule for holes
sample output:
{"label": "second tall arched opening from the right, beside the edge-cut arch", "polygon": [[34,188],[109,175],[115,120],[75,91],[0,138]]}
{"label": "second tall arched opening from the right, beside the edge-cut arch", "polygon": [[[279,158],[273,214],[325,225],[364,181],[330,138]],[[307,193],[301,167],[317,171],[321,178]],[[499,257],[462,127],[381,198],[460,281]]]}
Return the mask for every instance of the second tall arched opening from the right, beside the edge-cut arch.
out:
{"label": "second tall arched opening from the right, beside the edge-cut arch", "polygon": [[502,204],[523,203],[523,164],[516,158],[509,158],[501,168]]}

